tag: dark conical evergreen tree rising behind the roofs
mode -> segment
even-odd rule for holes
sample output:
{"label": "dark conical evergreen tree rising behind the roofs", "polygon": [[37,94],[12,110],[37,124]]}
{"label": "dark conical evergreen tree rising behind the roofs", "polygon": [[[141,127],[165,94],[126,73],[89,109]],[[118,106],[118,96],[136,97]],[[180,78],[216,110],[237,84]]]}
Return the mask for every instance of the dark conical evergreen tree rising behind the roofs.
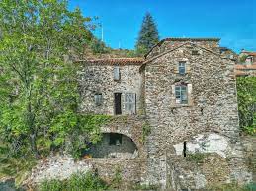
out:
{"label": "dark conical evergreen tree rising behind the roofs", "polygon": [[136,42],[138,54],[145,54],[159,42],[159,34],[153,17],[146,13]]}

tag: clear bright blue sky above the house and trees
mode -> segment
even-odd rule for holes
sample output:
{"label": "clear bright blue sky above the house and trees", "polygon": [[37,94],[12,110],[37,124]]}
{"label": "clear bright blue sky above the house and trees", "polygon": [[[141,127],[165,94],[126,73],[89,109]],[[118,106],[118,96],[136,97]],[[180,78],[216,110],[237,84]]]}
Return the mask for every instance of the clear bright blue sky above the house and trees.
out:
{"label": "clear bright blue sky above the house and trees", "polygon": [[[236,52],[256,51],[256,0],[70,0],[84,16],[98,16],[104,41],[113,48],[134,47],[145,12],[166,37],[219,37]],[[254,12],[254,13],[253,13]],[[98,29],[95,35],[101,37]]]}

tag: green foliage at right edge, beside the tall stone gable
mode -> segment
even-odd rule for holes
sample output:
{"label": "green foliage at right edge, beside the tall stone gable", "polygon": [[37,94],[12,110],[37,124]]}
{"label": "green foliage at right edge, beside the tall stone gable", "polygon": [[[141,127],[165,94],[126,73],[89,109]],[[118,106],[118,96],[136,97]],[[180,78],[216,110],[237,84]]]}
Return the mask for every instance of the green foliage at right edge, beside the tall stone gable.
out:
{"label": "green foliage at right edge, beside the tall stone gable", "polygon": [[236,82],[240,127],[246,133],[255,134],[256,77],[238,77]]}

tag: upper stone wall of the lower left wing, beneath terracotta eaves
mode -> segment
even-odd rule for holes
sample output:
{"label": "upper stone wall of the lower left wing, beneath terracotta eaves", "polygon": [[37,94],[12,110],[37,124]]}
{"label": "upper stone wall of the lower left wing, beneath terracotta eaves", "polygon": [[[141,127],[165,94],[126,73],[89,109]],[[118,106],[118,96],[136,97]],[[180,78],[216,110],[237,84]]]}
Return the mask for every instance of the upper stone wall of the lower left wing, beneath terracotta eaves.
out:
{"label": "upper stone wall of the lower left wing, beneath terracotta eaves", "polygon": [[[114,68],[119,66],[121,79],[114,80]],[[93,64],[85,62],[80,73],[80,92],[82,97],[81,111],[114,115],[114,93],[122,93],[122,113],[125,112],[125,93],[136,94],[136,113],[141,114],[141,86],[142,77],[138,64],[117,65]],[[97,106],[94,101],[95,93],[102,93],[103,103]]]}

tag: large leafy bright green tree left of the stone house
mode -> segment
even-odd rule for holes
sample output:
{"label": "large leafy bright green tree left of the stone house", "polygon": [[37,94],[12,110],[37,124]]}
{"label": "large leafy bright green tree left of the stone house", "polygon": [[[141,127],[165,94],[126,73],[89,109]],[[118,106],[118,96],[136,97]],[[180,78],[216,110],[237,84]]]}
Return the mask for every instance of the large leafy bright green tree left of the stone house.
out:
{"label": "large leafy bright green tree left of the stone house", "polygon": [[65,0],[0,1],[0,140],[12,154],[63,147],[81,125],[77,70],[91,18]]}

